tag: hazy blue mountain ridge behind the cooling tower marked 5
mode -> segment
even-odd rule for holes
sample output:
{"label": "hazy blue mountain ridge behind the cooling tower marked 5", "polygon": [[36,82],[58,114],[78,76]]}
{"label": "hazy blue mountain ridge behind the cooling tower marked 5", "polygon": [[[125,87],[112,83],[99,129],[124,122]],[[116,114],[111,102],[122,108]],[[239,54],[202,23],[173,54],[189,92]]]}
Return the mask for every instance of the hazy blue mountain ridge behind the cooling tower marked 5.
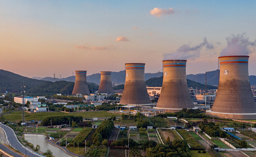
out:
{"label": "hazy blue mountain ridge behind the cooling tower marked 5", "polygon": [[[206,74],[206,77],[207,77],[207,84],[218,85],[219,83],[218,69],[215,71],[208,71]],[[196,74],[196,75],[190,74],[190,75],[187,75],[187,79],[205,84],[205,73]],[[254,75],[249,76],[249,80],[251,85],[256,85],[256,76]]]}

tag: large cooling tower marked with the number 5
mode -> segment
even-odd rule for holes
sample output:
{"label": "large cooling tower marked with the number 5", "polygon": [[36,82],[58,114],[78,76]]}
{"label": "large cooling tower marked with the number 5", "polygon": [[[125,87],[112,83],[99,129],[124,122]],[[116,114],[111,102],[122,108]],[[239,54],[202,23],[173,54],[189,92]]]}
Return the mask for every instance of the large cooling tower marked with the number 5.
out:
{"label": "large cooling tower marked with the number 5", "polygon": [[230,119],[256,119],[248,74],[249,56],[222,56],[218,92],[206,114]]}

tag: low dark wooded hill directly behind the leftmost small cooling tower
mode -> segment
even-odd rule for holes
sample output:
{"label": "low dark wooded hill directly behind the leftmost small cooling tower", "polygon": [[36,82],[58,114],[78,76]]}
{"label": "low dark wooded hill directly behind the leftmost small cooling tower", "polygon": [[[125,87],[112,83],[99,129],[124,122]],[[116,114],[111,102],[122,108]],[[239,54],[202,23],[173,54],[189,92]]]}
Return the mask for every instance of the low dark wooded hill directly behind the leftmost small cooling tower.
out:
{"label": "low dark wooded hill directly behind the leftmost small cooling tower", "polygon": [[[46,82],[45,84],[38,85],[30,90],[26,91],[27,95],[53,95],[53,94],[69,94],[71,95],[74,82],[67,82],[67,81],[55,81],[55,82]],[[88,82],[88,88],[90,93],[99,89],[99,86],[95,83]]]}

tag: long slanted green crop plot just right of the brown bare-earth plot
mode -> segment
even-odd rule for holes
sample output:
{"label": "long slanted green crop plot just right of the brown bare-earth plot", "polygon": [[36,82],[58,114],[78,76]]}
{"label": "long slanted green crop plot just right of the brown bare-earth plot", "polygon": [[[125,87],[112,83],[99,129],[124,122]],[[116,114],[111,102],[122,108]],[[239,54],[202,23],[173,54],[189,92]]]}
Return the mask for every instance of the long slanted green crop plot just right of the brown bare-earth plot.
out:
{"label": "long slanted green crop plot just right of the brown bare-earth plot", "polygon": [[176,131],[181,135],[181,137],[187,141],[191,148],[204,150],[204,147],[199,144],[186,130],[176,129]]}

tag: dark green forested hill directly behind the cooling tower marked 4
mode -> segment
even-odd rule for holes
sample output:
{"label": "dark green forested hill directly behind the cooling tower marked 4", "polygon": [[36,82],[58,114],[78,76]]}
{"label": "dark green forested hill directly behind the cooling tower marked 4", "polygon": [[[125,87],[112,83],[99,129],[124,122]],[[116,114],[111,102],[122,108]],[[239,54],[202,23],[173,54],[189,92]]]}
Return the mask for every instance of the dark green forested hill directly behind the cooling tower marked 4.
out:
{"label": "dark green forested hill directly behind the cooling tower marked 4", "polygon": [[[162,87],[163,84],[163,77],[154,77],[154,78],[150,78],[148,80],[146,80],[146,85],[150,86],[150,87]],[[193,87],[194,89],[198,88],[198,89],[204,89],[205,85],[201,84],[199,82],[195,82],[192,80],[187,79],[187,86],[188,87]],[[216,86],[211,86],[211,85],[207,85],[207,89],[217,89],[218,87]]]}

